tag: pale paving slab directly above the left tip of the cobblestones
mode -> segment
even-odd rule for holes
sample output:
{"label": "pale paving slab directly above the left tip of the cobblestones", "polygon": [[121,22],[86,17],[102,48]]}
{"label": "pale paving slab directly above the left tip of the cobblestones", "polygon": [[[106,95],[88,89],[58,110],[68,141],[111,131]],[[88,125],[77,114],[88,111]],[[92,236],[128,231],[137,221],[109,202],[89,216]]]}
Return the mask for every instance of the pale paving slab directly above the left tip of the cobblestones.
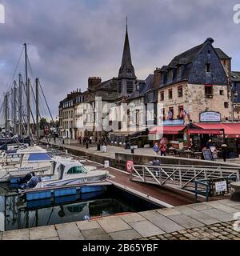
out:
{"label": "pale paving slab directly above the left tip of the cobblestones", "polygon": [[160,230],[158,226],[155,226],[152,222],[141,221],[141,222],[131,222],[130,226],[136,230],[143,237],[149,237],[152,235],[164,234],[163,230]]}

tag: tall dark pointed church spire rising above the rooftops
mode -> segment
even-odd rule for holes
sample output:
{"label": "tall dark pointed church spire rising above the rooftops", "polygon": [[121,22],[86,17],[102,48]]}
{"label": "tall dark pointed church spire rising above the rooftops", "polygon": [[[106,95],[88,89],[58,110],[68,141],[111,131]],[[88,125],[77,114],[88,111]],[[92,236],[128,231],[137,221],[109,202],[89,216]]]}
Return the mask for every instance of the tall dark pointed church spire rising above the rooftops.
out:
{"label": "tall dark pointed church spire rising above the rooftops", "polygon": [[134,72],[134,66],[132,64],[132,58],[130,53],[130,43],[127,30],[127,16],[126,16],[126,35],[122,53],[122,65],[119,70],[118,78],[136,78]]}

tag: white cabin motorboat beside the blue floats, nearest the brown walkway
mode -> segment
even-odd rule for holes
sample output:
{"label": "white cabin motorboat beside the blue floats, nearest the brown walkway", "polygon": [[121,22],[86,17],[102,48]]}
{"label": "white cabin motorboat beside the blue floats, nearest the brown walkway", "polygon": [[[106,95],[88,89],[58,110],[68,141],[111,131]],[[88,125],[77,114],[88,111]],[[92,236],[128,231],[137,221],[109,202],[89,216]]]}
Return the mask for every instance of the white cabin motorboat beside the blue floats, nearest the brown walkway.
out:
{"label": "white cabin motorboat beside the blue floats, nearest the brown walkway", "polygon": [[107,170],[83,166],[81,162],[72,158],[53,158],[53,175],[49,178],[42,178],[34,189],[51,188],[55,186],[74,186],[88,182],[99,182],[107,178]]}

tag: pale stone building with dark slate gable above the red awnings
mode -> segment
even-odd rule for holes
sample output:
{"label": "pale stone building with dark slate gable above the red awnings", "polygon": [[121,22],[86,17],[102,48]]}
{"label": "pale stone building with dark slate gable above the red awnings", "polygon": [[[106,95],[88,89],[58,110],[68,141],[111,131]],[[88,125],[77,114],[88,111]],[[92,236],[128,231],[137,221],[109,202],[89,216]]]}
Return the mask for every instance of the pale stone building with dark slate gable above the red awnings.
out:
{"label": "pale stone building with dark slate gable above the red awnings", "polygon": [[199,114],[205,111],[220,112],[222,122],[230,120],[230,58],[216,50],[213,42],[207,38],[176,56],[168,66],[155,70],[154,86],[159,82],[163,120],[199,122]]}

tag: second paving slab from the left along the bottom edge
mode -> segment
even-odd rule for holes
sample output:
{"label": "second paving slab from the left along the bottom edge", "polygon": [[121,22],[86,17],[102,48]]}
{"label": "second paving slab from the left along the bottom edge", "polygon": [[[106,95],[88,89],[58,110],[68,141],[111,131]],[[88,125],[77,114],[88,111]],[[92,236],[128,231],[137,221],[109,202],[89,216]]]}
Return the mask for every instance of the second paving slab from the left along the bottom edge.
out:
{"label": "second paving slab from the left along the bottom edge", "polygon": [[38,240],[44,238],[54,238],[58,236],[55,226],[38,226],[30,228],[30,240]]}

